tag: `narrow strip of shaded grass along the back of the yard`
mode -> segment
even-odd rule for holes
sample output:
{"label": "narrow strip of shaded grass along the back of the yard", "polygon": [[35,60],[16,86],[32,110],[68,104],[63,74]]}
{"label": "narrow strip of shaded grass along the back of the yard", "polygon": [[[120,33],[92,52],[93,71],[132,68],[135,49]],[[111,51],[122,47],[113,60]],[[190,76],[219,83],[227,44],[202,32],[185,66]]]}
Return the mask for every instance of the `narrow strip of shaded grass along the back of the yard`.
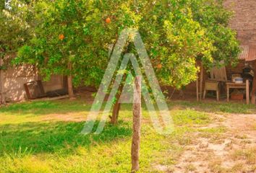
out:
{"label": "narrow strip of shaded grass along the back of the yard", "polygon": [[[104,107],[105,104],[103,104]],[[47,115],[47,114],[68,114],[74,112],[88,112],[92,104],[87,104],[84,100],[77,99],[75,101],[59,100],[59,101],[39,101],[25,102],[13,104],[7,107],[0,107],[0,114],[9,113],[14,115]],[[189,102],[168,100],[170,110],[173,107],[195,108],[205,112],[224,112],[224,113],[254,113],[255,105],[245,105],[244,103],[231,102]],[[142,104],[143,110],[147,110],[145,103]],[[131,104],[122,104],[121,110],[132,111]]]}

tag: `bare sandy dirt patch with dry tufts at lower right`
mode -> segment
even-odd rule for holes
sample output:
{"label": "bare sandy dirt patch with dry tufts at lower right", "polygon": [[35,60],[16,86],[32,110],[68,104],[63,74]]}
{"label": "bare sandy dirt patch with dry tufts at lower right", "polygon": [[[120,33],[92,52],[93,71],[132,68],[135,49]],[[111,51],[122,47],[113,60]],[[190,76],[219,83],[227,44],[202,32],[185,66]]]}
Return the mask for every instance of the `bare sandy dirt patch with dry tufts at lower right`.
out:
{"label": "bare sandy dirt patch with dry tufts at lower right", "polygon": [[215,115],[168,172],[256,172],[256,115]]}

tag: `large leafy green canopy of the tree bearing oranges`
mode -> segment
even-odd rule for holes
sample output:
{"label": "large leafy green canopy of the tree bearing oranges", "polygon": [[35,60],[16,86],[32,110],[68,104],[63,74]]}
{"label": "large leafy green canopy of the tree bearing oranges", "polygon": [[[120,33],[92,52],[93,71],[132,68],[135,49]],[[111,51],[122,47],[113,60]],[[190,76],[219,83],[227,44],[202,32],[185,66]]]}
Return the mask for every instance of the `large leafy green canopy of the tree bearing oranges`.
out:
{"label": "large leafy green canopy of the tree bearing oranges", "polygon": [[[46,79],[69,76],[71,97],[72,84],[100,84],[108,45],[124,28],[140,31],[159,81],[176,88],[195,81],[197,60],[205,66],[233,63],[239,53],[221,1],[56,0],[32,6],[33,38],[16,62],[35,64]],[[135,50],[127,45],[125,51]]]}

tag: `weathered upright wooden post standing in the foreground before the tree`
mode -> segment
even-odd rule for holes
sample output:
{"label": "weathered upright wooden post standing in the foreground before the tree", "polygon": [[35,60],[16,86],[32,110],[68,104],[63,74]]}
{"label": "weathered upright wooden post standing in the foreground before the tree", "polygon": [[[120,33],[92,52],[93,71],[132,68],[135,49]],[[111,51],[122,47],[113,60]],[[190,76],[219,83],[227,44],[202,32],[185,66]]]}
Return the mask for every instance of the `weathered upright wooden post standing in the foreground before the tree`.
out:
{"label": "weathered upright wooden post standing in the foreground before the tree", "polygon": [[133,95],[133,135],[132,135],[132,172],[140,169],[139,151],[140,151],[140,125],[141,125],[141,76],[135,79],[135,89]]}

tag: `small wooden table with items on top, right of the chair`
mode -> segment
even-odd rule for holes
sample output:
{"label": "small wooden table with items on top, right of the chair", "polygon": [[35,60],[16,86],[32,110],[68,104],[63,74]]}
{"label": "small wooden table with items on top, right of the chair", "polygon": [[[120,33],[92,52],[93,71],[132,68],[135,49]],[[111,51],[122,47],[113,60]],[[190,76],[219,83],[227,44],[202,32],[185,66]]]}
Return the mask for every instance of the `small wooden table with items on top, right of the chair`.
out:
{"label": "small wooden table with items on top, right of the chair", "polygon": [[234,82],[226,83],[227,101],[229,102],[229,89],[245,89],[246,90],[246,103],[249,104],[249,80],[243,84],[236,84]]}

